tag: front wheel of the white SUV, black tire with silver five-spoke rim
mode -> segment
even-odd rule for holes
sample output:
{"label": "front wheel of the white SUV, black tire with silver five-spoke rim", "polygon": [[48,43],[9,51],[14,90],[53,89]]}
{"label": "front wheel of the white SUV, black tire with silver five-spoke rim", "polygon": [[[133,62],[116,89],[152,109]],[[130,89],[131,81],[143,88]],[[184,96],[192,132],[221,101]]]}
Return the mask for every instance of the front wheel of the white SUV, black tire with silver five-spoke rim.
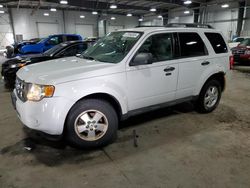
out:
{"label": "front wheel of the white SUV, black tire with silver five-spoke rim", "polygon": [[86,99],[70,110],[66,125],[66,139],[77,148],[103,147],[116,138],[118,117],[106,101]]}

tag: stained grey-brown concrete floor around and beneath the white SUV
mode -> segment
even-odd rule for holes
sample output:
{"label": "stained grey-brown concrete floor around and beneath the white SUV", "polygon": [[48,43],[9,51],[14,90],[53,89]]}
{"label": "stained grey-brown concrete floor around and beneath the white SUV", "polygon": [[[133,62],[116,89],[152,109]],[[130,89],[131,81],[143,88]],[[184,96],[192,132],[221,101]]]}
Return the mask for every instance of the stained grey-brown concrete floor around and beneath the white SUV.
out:
{"label": "stained grey-brown concrete floor around and beneath the white SUV", "polygon": [[249,188],[249,83],[250,74],[233,71],[213,113],[185,103],[140,115],[121,124],[115,143],[94,151],[27,134],[1,83],[0,187]]}

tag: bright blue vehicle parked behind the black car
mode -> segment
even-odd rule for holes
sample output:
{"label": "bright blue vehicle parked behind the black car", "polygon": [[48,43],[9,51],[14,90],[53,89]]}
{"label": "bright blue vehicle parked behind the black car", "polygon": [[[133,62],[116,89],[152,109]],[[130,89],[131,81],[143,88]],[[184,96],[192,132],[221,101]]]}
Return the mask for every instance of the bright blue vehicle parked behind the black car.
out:
{"label": "bright blue vehicle parked behind the black car", "polygon": [[36,44],[29,44],[24,45],[20,49],[20,54],[18,55],[24,55],[24,54],[40,54],[43,53],[50,48],[66,41],[79,41],[83,38],[80,35],[76,34],[59,34],[59,35],[50,35],[47,38],[44,38],[40,42]]}

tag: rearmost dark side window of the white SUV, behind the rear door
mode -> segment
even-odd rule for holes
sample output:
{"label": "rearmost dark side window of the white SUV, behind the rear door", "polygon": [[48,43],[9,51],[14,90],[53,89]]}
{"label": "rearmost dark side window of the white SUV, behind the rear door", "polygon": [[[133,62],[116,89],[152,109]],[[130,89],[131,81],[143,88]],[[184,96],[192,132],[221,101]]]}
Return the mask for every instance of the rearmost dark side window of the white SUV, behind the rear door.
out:
{"label": "rearmost dark side window of the white SUV, behind the rear door", "polygon": [[227,53],[227,45],[219,33],[205,33],[216,54]]}

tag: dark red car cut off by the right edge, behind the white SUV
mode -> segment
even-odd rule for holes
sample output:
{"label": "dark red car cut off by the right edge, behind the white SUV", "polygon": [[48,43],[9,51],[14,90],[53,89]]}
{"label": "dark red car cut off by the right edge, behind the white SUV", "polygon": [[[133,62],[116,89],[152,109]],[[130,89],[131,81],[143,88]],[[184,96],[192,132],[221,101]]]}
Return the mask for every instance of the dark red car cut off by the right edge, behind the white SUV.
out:
{"label": "dark red car cut off by the right edge, behind the white SUV", "polygon": [[235,62],[250,65],[250,38],[246,38],[233,48],[232,54]]}

